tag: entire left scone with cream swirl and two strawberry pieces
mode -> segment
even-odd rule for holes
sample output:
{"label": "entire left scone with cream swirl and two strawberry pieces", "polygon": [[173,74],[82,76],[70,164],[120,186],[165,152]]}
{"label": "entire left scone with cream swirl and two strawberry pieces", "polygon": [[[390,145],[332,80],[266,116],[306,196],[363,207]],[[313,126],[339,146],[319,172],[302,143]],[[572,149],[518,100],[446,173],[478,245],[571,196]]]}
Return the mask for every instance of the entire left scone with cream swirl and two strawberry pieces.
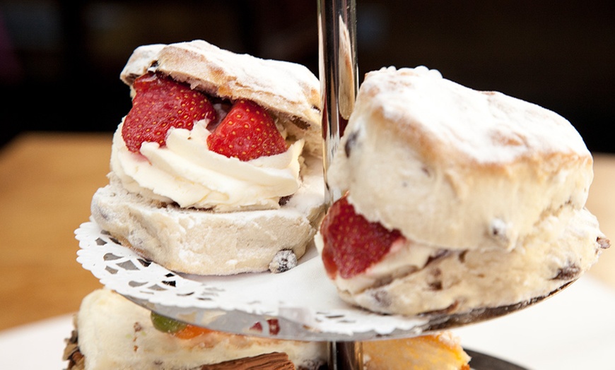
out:
{"label": "entire left scone with cream swirl and two strawberry pieces", "polygon": [[181,273],[292,268],[324,210],[320,84],[203,40],[138,47],[93,220]]}

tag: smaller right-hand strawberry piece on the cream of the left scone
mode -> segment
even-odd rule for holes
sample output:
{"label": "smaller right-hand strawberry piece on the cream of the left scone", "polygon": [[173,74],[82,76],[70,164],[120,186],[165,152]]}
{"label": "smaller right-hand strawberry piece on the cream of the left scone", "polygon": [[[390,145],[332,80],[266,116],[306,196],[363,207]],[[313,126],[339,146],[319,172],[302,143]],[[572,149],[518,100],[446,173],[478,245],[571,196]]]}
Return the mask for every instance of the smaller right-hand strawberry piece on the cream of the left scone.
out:
{"label": "smaller right-hand strawberry piece on the cream of the left scone", "polygon": [[209,150],[242,161],[286,152],[274,120],[259,105],[239,100],[207,137]]}

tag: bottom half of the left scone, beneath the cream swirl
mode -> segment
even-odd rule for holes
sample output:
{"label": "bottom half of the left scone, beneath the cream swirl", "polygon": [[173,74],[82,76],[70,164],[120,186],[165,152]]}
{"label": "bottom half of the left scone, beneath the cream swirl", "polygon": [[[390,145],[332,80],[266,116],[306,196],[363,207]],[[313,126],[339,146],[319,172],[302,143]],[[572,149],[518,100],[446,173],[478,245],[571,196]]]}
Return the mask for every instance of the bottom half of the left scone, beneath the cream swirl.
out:
{"label": "bottom half of the left scone, beneath the cream swirl", "polygon": [[111,181],[95,192],[93,220],[119,244],[177,273],[234,275],[294,268],[324,212],[322,193],[300,189],[277,210],[213,213],[166,205]]}

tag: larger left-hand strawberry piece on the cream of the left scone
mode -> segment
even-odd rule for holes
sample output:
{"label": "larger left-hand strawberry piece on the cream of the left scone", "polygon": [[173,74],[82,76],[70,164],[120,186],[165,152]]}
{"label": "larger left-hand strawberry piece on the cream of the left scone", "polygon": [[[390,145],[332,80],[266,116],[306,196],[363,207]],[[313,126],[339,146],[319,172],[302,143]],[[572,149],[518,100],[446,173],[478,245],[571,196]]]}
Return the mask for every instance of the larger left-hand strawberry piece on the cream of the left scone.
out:
{"label": "larger left-hand strawberry piece on the cream of the left scone", "polygon": [[124,119],[122,138],[129,150],[139,153],[144,142],[166,143],[171,127],[192,130],[194,121],[216,119],[207,97],[172,78],[147,73],[133,83],[136,95]]}

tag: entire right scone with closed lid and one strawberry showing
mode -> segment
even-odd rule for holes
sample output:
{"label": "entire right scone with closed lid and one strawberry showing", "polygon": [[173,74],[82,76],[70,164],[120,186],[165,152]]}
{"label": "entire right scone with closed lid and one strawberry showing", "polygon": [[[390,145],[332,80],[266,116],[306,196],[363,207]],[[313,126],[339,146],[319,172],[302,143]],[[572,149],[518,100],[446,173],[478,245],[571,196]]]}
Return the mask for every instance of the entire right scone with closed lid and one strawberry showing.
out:
{"label": "entire right scone with closed lid and one strawberry showing", "polygon": [[341,297],[385,314],[523,306],[609,241],[585,208],[592,155],[558,114],[438,71],[365,76],[316,237]]}

